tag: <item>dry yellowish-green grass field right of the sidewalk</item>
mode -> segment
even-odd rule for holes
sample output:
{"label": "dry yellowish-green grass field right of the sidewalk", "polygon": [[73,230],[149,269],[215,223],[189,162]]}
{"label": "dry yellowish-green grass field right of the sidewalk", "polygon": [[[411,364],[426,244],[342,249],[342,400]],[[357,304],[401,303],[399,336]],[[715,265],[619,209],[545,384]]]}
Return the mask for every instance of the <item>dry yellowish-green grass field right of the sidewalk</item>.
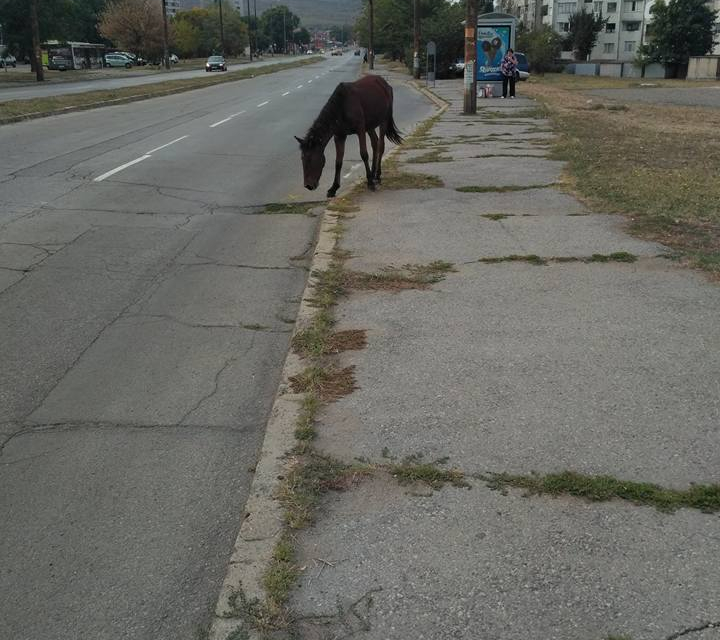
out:
{"label": "dry yellowish-green grass field right of the sidewalk", "polygon": [[720,110],[625,98],[593,107],[588,100],[597,98],[584,90],[638,84],[611,80],[546,75],[528,86],[559,134],[551,157],[568,162],[566,188],[590,208],[627,215],[631,232],[720,277]]}

